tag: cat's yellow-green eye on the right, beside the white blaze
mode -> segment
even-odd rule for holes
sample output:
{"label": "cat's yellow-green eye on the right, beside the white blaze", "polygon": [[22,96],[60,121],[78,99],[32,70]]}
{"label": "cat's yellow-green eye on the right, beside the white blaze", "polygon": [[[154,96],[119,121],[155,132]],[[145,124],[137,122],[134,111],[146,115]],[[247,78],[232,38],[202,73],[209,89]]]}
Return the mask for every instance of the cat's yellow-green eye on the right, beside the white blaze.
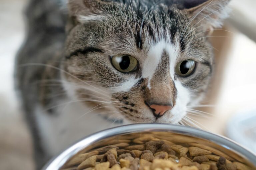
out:
{"label": "cat's yellow-green eye on the right, beside the white blaze", "polygon": [[176,65],[175,72],[180,76],[190,76],[196,68],[196,62],[193,60],[185,60]]}

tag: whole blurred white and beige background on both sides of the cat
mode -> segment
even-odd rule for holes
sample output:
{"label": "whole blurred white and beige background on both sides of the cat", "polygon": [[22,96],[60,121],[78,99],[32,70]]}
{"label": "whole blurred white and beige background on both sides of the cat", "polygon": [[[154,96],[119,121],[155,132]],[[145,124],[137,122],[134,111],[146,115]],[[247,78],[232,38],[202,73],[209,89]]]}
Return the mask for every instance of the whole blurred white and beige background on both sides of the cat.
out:
{"label": "whole blurred white and beige background on both sides of the cat", "polygon": [[[33,169],[31,139],[14,91],[15,54],[25,38],[27,0],[0,0],[0,169]],[[213,38],[217,70],[191,124],[256,152],[256,1],[232,0],[230,19]],[[218,39],[216,41],[216,39]],[[218,43],[222,42],[222,43]],[[207,113],[204,113],[207,112]]]}

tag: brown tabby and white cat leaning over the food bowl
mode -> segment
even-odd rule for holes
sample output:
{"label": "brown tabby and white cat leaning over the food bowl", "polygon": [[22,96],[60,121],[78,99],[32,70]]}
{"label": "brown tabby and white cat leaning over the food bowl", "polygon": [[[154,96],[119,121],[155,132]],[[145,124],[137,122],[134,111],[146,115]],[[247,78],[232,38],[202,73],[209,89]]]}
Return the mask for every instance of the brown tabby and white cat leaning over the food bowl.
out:
{"label": "brown tabby and white cat leaning over the food bowl", "polygon": [[15,77],[37,169],[102,129],[179,124],[211,83],[229,1],[31,0]]}

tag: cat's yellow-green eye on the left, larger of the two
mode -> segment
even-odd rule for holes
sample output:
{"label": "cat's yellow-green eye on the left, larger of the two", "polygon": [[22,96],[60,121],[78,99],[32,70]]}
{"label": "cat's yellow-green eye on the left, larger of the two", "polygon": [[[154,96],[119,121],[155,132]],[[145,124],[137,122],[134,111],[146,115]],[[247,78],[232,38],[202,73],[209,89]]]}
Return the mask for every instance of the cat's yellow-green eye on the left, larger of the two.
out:
{"label": "cat's yellow-green eye on the left, larger of the two", "polygon": [[111,62],[118,71],[123,73],[129,73],[138,67],[137,59],[129,55],[112,56]]}

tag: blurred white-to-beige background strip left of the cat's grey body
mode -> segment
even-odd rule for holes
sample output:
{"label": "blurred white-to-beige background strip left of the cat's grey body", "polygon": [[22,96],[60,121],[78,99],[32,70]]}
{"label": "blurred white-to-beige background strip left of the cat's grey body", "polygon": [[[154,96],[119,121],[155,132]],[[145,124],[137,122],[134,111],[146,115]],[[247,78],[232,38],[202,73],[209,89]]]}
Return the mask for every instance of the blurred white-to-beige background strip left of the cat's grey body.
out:
{"label": "blurred white-to-beige background strip left of the cat's grey body", "polygon": [[26,0],[0,1],[0,169],[33,169],[30,136],[13,87],[14,56],[24,38]]}

